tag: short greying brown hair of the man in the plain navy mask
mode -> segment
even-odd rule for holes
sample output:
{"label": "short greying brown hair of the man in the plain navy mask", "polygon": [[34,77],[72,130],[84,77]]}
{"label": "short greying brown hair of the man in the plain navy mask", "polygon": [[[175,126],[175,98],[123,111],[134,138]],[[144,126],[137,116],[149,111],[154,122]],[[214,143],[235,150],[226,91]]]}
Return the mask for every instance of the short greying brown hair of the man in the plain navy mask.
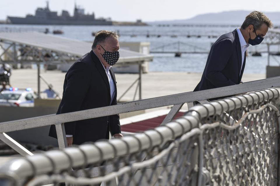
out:
{"label": "short greying brown hair of the man in the plain navy mask", "polygon": [[241,25],[241,28],[245,29],[252,24],[255,30],[258,30],[264,23],[268,26],[268,28],[272,28],[273,26],[270,19],[268,19],[268,17],[264,13],[253,11],[246,16],[245,21]]}

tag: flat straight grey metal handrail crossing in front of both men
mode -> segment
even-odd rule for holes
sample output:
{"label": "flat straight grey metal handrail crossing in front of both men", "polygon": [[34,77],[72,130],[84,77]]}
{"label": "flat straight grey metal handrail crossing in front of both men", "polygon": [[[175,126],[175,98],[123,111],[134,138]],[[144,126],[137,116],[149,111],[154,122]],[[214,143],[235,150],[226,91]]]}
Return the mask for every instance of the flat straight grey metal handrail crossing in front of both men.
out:
{"label": "flat straight grey metal handrail crossing in front of both men", "polygon": [[173,94],[168,96],[143,99],[139,101],[119,103],[117,105],[82,110],[77,112],[69,112],[59,115],[53,114],[28,119],[2,122],[0,123],[0,133],[36,128],[41,126],[49,126],[53,124],[66,123],[71,121],[104,117],[120,113],[133,112],[150,108],[158,108],[169,105],[179,105],[183,103],[189,103],[193,101],[200,101],[223,96],[232,96],[246,92],[263,90],[270,87],[280,87],[280,76],[258,81],[251,81],[239,85],[215,88],[211,90],[185,92],[181,94]]}

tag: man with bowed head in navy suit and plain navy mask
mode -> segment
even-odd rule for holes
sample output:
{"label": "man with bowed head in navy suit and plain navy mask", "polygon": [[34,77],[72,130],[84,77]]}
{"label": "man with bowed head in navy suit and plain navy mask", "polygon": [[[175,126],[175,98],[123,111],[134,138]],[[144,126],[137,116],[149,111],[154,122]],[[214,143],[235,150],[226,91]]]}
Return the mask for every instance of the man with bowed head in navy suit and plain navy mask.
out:
{"label": "man with bowed head in navy suit and plain navy mask", "polygon": [[241,28],[226,33],[212,45],[202,74],[194,91],[241,83],[246,49],[260,44],[272,22],[262,12],[253,11],[246,16]]}

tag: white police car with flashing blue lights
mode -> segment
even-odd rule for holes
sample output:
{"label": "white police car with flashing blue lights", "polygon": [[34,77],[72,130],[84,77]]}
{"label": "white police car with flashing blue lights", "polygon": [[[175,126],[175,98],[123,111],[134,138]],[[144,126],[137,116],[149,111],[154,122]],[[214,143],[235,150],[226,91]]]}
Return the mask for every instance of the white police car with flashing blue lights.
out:
{"label": "white police car with flashing blue lights", "polygon": [[10,88],[0,94],[0,106],[34,107],[34,91],[31,88]]}

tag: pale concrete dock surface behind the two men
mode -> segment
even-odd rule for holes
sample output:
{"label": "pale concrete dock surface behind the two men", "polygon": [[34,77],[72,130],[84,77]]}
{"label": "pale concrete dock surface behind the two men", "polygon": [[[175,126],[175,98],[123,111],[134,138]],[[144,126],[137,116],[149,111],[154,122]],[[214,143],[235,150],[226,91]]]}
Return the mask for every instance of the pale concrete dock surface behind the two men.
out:
{"label": "pale concrete dock surface behind the two men", "polygon": [[[63,92],[63,83],[65,74],[61,71],[44,71],[41,70],[43,76],[49,83],[53,85],[60,95]],[[149,72],[142,75],[142,99],[148,99],[158,96],[166,96],[189,92],[194,90],[200,81],[202,73],[188,72]],[[116,74],[118,97],[127,90],[127,88],[138,78],[138,74]],[[265,74],[244,74],[242,81],[254,81],[265,79]],[[17,88],[32,88],[37,92],[37,70],[35,69],[15,69],[12,71],[10,83]],[[41,80],[41,91],[46,90],[47,85]],[[77,87],[79,91],[80,87]],[[127,92],[121,101],[132,101],[136,89],[136,84]],[[136,100],[138,100],[138,92]]]}

